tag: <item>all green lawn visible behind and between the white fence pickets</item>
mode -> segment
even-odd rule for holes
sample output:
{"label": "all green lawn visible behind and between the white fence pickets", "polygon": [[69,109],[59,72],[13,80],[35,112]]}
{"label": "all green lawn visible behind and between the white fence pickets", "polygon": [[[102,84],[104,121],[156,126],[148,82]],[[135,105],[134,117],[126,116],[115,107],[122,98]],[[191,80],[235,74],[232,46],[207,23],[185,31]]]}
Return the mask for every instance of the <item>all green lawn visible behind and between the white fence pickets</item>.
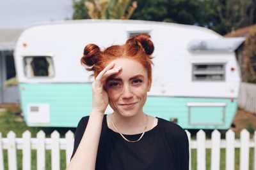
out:
{"label": "all green lawn visible behind and between the white fence pickets", "polygon": [[[31,138],[36,137],[36,133],[40,130],[44,131],[47,138],[51,136],[51,133],[56,130],[60,132],[60,136],[63,138],[65,133],[68,130],[75,131],[76,129],[72,128],[45,128],[45,127],[28,127],[23,121],[23,118],[20,117],[19,114],[15,114],[19,112],[19,108],[14,108],[12,110],[7,110],[5,112],[0,113],[0,132],[2,133],[2,138],[6,138],[6,135],[9,131],[15,132],[17,138],[21,138],[22,133],[26,130],[31,132]],[[252,119],[251,119],[252,120]],[[254,130],[254,128],[253,128]],[[211,131],[205,131],[208,133],[206,136],[209,138],[211,136]],[[236,132],[236,131],[235,131]],[[193,134],[193,133],[192,133]],[[239,136],[239,132],[236,132],[236,136]],[[195,136],[192,136],[195,139]],[[235,151],[235,169],[239,169],[239,149],[237,148]],[[32,162],[31,169],[36,169],[36,151],[33,150],[31,152]],[[65,151],[61,150],[61,169],[65,169]],[[51,151],[47,150],[46,152],[46,169],[51,169]],[[18,169],[22,169],[22,151],[17,151],[17,164]],[[191,150],[191,167],[192,170],[196,169],[196,150]],[[250,149],[250,169],[253,168],[253,148]],[[7,151],[4,150],[4,169],[8,169],[7,164]],[[211,150],[206,150],[206,169],[211,169]],[[220,169],[225,169],[225,149],[221,149],[221,159],[220,159]]]}

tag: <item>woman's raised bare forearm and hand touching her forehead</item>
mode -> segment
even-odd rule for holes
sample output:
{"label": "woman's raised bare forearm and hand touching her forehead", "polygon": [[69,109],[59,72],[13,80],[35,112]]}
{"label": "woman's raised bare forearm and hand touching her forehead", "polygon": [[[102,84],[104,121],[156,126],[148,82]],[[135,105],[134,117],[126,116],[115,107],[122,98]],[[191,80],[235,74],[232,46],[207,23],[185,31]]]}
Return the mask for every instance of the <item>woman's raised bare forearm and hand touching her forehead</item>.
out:
{"label": "woman's raised bare forearm and hand touching her forehead", "polygon": [[67,170],[94,170],[99,146],[104,112],[108,106],[108,94],[104,90],[106,79],[121,68],[113,69],[115,63],[108,64],[92,83],[92,112],[79,146],[68,164]]}

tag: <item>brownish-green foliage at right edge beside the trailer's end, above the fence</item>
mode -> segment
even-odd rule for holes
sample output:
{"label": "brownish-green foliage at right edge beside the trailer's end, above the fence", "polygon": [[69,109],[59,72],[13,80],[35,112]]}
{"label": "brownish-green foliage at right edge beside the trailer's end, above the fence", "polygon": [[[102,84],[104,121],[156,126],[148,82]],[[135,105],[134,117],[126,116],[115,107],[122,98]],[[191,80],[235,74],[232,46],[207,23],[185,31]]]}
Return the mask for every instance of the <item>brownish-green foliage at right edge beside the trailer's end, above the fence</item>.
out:
{"label": "brownish-green foliage at right edge beside the trailer's end, above the fence", "polygon": [[245,67],[243,81],[256,83],[256,29],[251,29],[248,32],[244,49],[246,58],[243,66]]}

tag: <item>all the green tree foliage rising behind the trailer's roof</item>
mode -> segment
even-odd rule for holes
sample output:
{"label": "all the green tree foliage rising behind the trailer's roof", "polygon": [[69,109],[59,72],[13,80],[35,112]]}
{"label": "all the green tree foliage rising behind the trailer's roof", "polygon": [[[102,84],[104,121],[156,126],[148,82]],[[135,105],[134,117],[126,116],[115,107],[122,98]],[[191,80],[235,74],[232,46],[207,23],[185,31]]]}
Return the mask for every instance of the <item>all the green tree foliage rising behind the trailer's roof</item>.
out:
{"label": "all the green tree foliage rising behind the trailer's roof", "polygon": [[[95,11],[95,7],[99,6],[96,5],[96,2],[102,2],[102,6],[104,6],[103,4],[106,2],[109,4],[109,11],[106,10],[105,7],[100,7],[102,8],[100,13],[108,13],[108,15],[104,14],[102,17],[93,18],[122,18],[118,13],[120,13],[120,11],[124,13],[124,9],[131,5],[131,0],[122,1],[126,2],[125,5],[117,5],[120,4],[118,3],[119,1],[121,2],[122,0],[80,0],[79,2],[74,3],[73,18],[90,18],[87,14],[88,11],[84,7],[84,3],[86,2],[88,2],[88,6],[92,6],[94,2],[94,12],[97,11]],[[113,8],[113,4],[115,4],[114,6],[117,10],[114,10],[115,8]],[[112,11],[112,13],[110,11]],[[92,15],[92,13],[93,12],[90,12],[90,15]],[[119,17],[111,17],[115,15]],[[138,7],[132,13],[131,19],[200,25],[203,27],[208,27],[209,29],[213,29],[220,34],[227,34],[234,29],[256,23],[256,1],[138,0]]]}

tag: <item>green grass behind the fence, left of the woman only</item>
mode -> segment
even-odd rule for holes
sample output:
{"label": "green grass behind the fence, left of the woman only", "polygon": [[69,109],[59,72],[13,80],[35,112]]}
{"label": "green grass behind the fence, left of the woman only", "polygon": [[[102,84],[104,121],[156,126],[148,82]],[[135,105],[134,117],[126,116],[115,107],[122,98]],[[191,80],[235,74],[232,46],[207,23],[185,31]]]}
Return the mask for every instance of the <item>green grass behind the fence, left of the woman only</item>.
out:
{"label": "green grass behind the fence, left of the woman only", "polygon": [[[60,132],[61,138],[65,136],[65,133],[68,130],[75,131],[74,128],[53,128],[53,127],[28,127],[24,123],[22,117],[19,114],[15,114],[19,112],[19,108],[14,108],[12,110],[7,110],[4,113],[0,113],[0,132],[2,134],[2,138],[6,138],[8,132],[13,131],[16,134],[17,138],[22,137],[22,133],[26,130],[31,132],[31,138],[36,138],[36,133],[40,130],[45,132],[47,138],[51,136],[53,131]],[[66,168],[66,158],[65,158],[65,150],[60,151],[60,167],[61,169]],[[8,169],[8,155],[7,150],[3,151],[4,155],[4,169]],[[45,169],[51,169],[51,150],[46,150],[45,152]],[[17,150],[17,169],[22,169],[22,150]],[[36,150],[32,150],[31,152],[31,169],[36,169]]]}

